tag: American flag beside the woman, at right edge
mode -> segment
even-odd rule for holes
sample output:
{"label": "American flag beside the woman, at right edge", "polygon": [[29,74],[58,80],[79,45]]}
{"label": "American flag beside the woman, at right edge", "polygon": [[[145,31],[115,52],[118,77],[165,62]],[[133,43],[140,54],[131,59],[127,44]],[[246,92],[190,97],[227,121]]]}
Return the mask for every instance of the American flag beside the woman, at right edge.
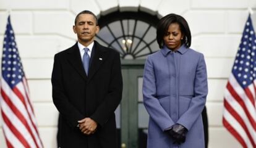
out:
{"label": "American flag beside the woman, at right edge", "polygon": [[224,92],[223,125],[242,147],[256,147],[255,54],[256,38],[249,14]]}

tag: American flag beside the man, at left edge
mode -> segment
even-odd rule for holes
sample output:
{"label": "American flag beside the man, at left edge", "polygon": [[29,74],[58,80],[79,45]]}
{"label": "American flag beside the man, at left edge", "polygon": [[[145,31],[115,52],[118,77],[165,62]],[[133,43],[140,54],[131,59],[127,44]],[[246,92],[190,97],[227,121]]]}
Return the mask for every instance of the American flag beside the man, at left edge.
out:
{"label": "American flag beside the man, at left edge", "polygon": [[27,79],[9,16],[2,51],[0,95],[2,129],[7,147],[43,147],[28,94]]}

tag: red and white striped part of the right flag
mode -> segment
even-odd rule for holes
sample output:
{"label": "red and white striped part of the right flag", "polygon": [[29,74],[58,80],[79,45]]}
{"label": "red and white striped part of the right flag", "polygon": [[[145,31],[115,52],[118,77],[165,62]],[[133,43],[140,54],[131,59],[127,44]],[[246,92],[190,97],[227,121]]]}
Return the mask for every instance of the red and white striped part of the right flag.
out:
{"label": "red and white striped part of the right flag", "polygon": [[255,83],[243,89],[233,73],[224,92],[223,125],[243,147],[256,147]]}

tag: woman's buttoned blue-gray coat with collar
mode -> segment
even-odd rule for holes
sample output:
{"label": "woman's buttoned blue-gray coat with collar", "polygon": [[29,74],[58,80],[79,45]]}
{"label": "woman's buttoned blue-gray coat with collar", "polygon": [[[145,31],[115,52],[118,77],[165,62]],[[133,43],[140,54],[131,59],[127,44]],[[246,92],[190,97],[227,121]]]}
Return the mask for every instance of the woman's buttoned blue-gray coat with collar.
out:
{"label": "woman's buttoned blue-gray coat with collar", "polygon": [[[149,55],[143,74],[143,102],[150,115],[147,147],[205,147],[201,112],[207,93],[203,54],[182,45],[176,52],[164,46]],[[188,130],[179,146],[164,132],[176,123]]]}

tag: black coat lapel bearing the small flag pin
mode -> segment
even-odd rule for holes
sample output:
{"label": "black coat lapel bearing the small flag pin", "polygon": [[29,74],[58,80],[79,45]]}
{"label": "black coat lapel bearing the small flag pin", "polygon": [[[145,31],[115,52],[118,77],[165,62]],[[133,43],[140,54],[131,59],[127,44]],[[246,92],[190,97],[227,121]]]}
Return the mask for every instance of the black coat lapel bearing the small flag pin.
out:
{"label": "black coat lapel bearing the small flag pin", "polygon": [[100,68],[100,65],[105,62],[108,52],[107,50],[98,44],[96,41],[94,42],[94,47],[93,50],[93,57],[92,57],[92,63],[90,64],[90,69],[89,69],[89,75],[88,75],[88,81],[90,81],[97,72],[97,70]]}

